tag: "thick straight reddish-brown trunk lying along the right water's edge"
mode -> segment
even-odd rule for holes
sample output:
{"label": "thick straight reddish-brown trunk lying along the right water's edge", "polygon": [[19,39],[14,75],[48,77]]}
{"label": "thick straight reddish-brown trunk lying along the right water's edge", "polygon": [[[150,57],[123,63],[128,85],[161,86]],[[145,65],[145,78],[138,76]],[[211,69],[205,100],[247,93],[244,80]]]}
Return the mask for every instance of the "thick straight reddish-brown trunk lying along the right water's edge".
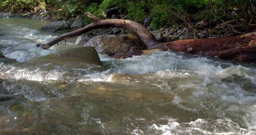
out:
{"label": "thick straight reddish-brown trunk lying along the right water's edge", "polygon": [[165,45],[174,52],[217,56],[223,60],[256,61],[256,32],[204,40],[178,40]]}

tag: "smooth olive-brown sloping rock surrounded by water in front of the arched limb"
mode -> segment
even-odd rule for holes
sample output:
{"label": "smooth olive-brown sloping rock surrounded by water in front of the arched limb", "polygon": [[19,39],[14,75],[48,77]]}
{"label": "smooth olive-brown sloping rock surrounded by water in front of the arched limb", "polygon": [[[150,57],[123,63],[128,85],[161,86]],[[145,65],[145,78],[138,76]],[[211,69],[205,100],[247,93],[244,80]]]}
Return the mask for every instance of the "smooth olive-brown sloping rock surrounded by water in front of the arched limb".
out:
{"label": "smooth olive-brown sloping rock surrounded by water in front of the arched limb", "polygon": [[55,64],[55,65],[76,65],[81,63],[101,65],[100,58],[95,48],[79,47],[60,51],[47,56],[42,56],[28,60],[26,63],[35,65]]}

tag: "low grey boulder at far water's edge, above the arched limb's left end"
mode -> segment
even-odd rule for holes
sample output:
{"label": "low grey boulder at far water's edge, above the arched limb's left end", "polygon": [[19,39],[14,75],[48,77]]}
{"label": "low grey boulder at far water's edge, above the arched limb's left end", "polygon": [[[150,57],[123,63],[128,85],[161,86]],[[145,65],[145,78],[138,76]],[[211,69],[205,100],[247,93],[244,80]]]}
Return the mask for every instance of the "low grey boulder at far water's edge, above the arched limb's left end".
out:
{"label": "low grey boulder at far water's edge, above the arched limb's left end", "polygon": [[61,21],[53,22],[52,24],[45,25],[40,30],[44,32],[57,32],[57,31],[62,31],[66,29],[69,29],[69,25],[67,21],[61,20]]}

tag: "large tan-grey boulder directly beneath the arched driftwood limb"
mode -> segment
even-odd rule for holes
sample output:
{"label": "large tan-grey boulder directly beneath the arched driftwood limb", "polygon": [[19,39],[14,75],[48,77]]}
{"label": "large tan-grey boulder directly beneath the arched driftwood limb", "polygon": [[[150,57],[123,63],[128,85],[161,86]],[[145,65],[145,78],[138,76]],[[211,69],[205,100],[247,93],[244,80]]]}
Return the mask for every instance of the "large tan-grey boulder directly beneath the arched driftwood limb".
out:
{"label": "large tan-grey boulder directly beneath the arched driftwood limb", "polygon": [[96,36],[84,44],[96,48],[98,53],[113,55],[129,52],[132,46],[142,47],[142,44],[132,35]]}

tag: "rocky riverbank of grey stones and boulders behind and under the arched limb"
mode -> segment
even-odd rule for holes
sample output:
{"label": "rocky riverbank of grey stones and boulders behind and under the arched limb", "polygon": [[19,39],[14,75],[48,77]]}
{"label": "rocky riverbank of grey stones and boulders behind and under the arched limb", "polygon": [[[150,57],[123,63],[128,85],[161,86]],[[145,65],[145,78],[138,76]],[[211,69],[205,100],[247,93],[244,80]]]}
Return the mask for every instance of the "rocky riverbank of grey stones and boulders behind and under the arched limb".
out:
{"label": "rocky riverbank of grey stones and boulders behind and under the arched limb", "polygon": [[[8,18],[30,18],[43,21],[49,21],[49,24],[40,28],[40,31],[45,32],[60,32],[72,31],[82,28],[86,25],[83,16],[76,16],[68,20],[50,19],[46,16],[47,11],[39,10],[38,12],[28,12],[20,14],[0,13],[2,17]],[[115,14],[109,15],[111,18]],[[179,28],[160,28],[159,30],[152,31],[151,18],[144,19],[144,26],[156,37],[160,42],[168,42],[173,40],[185,40],[194,38],[207,38],[208,32],[202,31],[198,33],[191,33],[186,27]],[[195,36],[198,35],[198,36]],[[128,52],[132,46],[140,47],[143,49],[143,44],[140,43],[132,32],[123,28],[101,28],[87,32],[77,37],[76,43],[78,46],[92,46],[96,48],[98,53],[114,55],[116,53]]]}

